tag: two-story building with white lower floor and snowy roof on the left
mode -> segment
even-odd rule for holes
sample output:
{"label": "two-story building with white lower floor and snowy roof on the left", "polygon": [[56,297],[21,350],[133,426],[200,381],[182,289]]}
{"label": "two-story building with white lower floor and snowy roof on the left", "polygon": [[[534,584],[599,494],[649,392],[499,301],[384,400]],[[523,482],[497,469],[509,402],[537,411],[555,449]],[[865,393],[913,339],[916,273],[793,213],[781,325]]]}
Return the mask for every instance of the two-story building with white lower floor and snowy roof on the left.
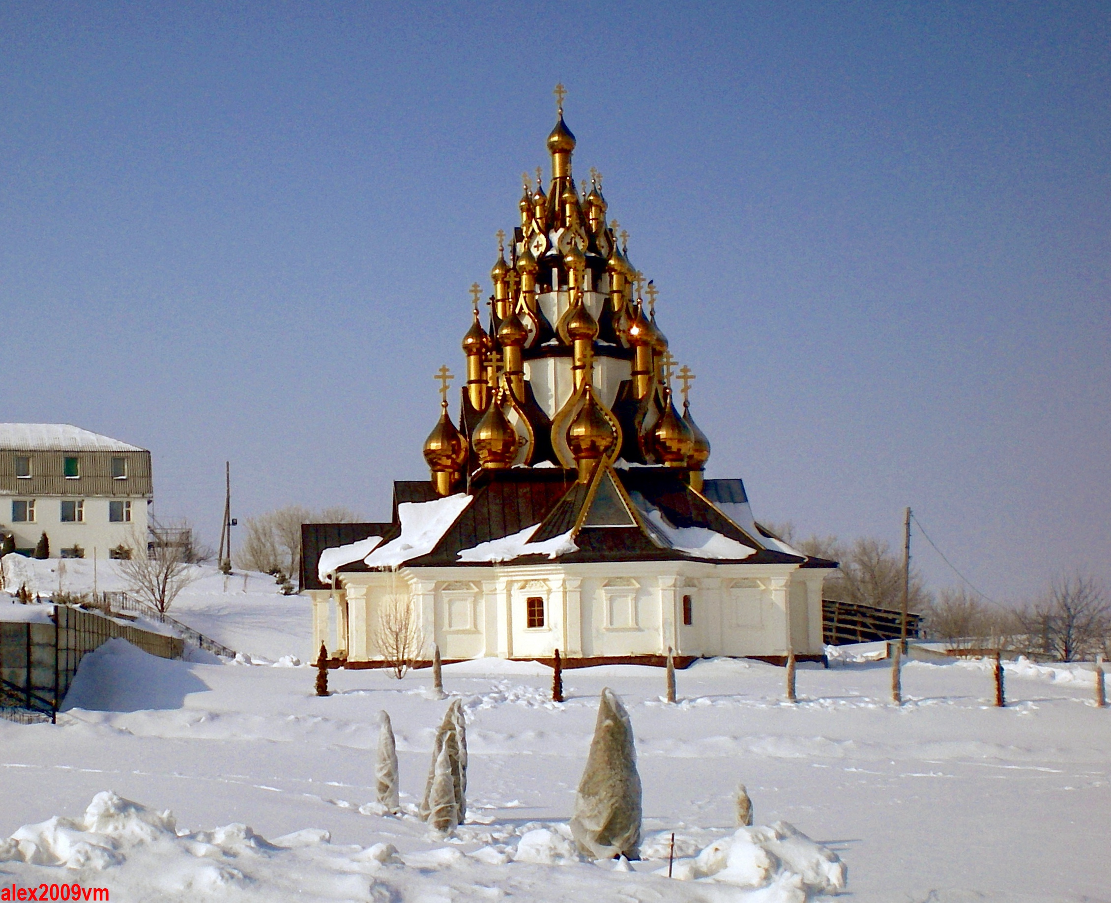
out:
{"label": "two-story building with white lower floor and snowy roof on the left", "polygon": [[[0,423],[0,530],[30,553],[112,558],[146,543],[150,452],[68,423]],[[138,538],[138,540],[137,540]]]}

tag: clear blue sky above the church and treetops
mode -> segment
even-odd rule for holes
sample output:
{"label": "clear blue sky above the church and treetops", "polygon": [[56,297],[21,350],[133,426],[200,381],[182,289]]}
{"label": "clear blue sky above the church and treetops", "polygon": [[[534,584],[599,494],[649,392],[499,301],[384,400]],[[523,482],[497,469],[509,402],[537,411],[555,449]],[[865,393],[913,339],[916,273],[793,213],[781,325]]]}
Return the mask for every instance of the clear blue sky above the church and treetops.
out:
{"label": "clear blue sky above the church and treetops", "polygon": [[[1107,3],[0,3],[2,420],[216,541],[427,475],[552,86],[758,518],[1111,576]],[[924,542],[937,589],[955,578]]]}

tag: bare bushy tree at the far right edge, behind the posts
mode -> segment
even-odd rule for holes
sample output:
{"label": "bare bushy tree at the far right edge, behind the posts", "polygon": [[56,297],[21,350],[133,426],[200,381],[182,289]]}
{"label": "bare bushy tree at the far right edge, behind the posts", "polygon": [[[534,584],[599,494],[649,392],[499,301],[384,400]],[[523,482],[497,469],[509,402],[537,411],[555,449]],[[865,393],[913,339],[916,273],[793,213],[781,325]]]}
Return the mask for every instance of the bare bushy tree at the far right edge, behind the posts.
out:
{"label": "bare bushy tree at the far right edge, behind the posts", "polygon": [[1029,651],[1061,662],[1094,656],[1111,640],[1111,602],[1094,579],[1058,578],[1045,598],[1019,612]]}

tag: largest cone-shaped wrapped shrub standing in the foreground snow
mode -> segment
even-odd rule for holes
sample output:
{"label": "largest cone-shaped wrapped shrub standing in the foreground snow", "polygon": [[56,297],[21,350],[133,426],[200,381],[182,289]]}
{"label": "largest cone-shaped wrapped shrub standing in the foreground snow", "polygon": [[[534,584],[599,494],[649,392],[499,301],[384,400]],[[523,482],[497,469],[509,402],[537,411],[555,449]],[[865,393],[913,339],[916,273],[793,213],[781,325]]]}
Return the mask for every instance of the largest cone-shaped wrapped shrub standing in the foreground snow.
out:
{"label": "largest cone-shaped wrapped shrub standing in the foreground snow", "polygon": [[640,799],[632,723],[621,699],[605,688],[571,819],[583,855],[640,859]]}

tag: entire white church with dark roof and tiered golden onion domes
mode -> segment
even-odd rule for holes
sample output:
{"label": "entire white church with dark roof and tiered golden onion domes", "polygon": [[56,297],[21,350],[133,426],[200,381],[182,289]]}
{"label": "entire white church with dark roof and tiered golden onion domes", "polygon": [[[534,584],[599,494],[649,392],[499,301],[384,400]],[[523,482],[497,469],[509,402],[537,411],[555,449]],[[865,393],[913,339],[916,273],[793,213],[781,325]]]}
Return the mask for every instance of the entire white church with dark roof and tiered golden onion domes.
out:
{"label": "entire white church with dark roof and tiered golden onion domes", "polygon": [[548,187],[524,179],[487,310],[471,288],[457,417],[437,374],[430,479],[394,483],[387,523],[302,526],[313,648],[348,668],[380,666],[404,631],[423,660],[433,643],[444,661],[820,660],[837,564],[753,520],[741,480],[705,479],[693,375],[601,177],[575,185],[557,97]]}

